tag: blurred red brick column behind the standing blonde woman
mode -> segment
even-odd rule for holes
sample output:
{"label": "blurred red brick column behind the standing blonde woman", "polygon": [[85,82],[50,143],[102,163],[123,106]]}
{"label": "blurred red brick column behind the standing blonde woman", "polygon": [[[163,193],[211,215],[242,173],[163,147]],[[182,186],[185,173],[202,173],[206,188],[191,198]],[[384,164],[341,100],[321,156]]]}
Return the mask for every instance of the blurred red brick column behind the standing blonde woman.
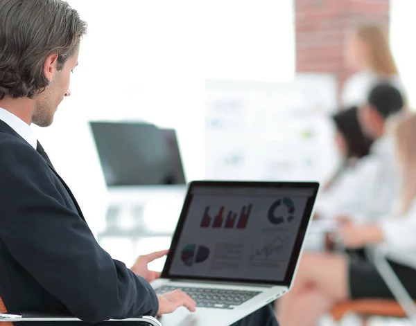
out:
{"label": "blurred red brick column behind the standing blonde woman", "polygon": [[343,57],[347,30],[370,21],[388,30],[390,0],[294,0],[296,71],[335,73],[340,88],[354,73]]}

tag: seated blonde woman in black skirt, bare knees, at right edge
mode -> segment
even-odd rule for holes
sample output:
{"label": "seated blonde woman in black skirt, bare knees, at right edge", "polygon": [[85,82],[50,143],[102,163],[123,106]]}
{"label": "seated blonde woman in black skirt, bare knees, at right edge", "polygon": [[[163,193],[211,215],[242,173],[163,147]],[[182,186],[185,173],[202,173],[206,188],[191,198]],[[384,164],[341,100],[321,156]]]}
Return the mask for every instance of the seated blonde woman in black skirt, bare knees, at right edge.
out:
{"label": "seated blonde woman in black skirt, bare knees, at right edge", "polygon": [[[416,252],[416,114],[402,116],[393,132],[401,168],[397,210],[377,224],[342,221],[338,236],[347,248],[390,246],[390,264],[410,295],[416,298],[416,270],[408,266]],[[348,260],[331,253],[304,253],[293,289],[279,299],[277,318],[281,325],[313,326],[337,302],[363,298],[393,298],[370,260],[366,257]]]}

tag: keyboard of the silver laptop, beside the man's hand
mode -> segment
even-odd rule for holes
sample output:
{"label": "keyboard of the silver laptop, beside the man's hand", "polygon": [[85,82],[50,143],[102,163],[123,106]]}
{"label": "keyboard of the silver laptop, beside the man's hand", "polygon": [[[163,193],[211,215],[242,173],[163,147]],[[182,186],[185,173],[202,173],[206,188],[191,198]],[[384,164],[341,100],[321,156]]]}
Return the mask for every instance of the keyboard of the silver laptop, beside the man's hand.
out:
{"label": "keyboard of the silver laptop, beside the man's hand", "polygon": [[207,289],[202,287],[171,287],[164,285],[155,289],[157,294],[182,290],[196,301],[196,307],[234,309],[247,300],[254,298],[259,291],[241,291],[226,289]]}

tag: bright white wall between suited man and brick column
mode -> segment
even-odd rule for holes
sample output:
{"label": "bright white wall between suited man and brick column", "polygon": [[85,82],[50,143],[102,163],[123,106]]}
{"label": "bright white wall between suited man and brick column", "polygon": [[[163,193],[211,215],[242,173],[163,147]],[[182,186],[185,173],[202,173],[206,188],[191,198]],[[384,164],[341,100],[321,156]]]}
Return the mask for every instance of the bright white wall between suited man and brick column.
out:
{"label": "bright white wall between suited man and brick column", "polygon": [[94,231],[103,227],[105,183],[89,119],[175,127],[187,177],[201,179],[205,79],[279,81],[294,73],[292,1],[68,2],[89,33],[71,98],[52,127],[35,132]]}

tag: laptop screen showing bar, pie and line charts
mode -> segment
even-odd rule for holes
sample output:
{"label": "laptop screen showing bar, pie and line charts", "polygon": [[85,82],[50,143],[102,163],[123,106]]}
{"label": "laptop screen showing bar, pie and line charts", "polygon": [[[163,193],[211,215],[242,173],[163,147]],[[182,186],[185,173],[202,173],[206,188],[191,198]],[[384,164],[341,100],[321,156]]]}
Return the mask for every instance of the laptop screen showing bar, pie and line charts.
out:
{"label": "laptop screen showing bar, pie and line charts", "polygon": [[191,183],[164,278],[291,283],[318,183]]}

